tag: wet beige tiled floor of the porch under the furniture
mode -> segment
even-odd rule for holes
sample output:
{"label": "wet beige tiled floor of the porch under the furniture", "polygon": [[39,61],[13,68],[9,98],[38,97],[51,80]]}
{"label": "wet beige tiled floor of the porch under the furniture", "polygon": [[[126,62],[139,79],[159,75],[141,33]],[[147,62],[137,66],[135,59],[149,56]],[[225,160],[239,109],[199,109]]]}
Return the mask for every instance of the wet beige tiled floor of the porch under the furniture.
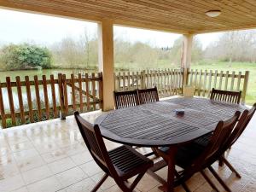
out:
{"label": "wet beige tiled floor of the porch under the furniture", "polygon": [[[93,122],[102,112],[84,114]],[[229,183],[233,191],[256,191],[256,117],[232,147],[228,159],[241,172],[237,179],[226,166],[218,173]],[[108,148],[118,146],[106,141]],[[166,177],[166,169],[158,172]],[[102,177],[84,146],[73,117],[67,120],[50,120],[23,125],[0,131],[0,191],[1,192],[86,192]],[[217,183],[215,180],[213,180]],[[212,191],[210,186],[196,174],[188,182],[195,192]],[[152,177],[145,175],[137,185],[137,191],[160,191]],[[219,189],[223,190],[219,184]],[[120,191],[108,178],[101,191]],[[183,191],[177,187],[176,191]]]}

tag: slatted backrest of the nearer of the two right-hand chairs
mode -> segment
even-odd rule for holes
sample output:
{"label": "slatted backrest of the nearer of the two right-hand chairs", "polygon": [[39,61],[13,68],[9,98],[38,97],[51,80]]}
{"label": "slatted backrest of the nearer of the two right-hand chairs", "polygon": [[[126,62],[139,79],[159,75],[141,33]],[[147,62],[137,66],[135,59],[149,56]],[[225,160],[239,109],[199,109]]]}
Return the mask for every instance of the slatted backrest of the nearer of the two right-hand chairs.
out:
{"label": "slatted backrest of the nearer of the two right-hand chairs", "polygon": [[206,165],[207,162],[212,162],[212,158],[217,157],[219,151],[221,151],[222,148],[224,148],[225,144],[228,142],[228,139],[232,131],[234,130],[234,127],[240,114],[241,112],[236,111],[235,115],[232,118],[225,121],[221,120],[218,122],[218,125],[213,131],[210,142],[204,149],[204,152],[195,160],[195,167],[192,167],[191,172],[193,171],[193,169],[197,171],[200,170],[201,166]]}

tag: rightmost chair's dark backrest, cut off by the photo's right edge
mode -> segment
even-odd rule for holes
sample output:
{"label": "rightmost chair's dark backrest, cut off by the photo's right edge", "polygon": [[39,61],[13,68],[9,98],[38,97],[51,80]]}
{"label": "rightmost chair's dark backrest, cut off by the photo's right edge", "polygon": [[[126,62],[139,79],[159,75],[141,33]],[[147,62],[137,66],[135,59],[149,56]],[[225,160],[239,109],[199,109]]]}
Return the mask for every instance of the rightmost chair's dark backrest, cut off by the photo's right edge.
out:
{"label": "rightmost chair's dark backrest, cut off by the photo's right edge", "polygon": [[253,104],[253,108],[250,110],[244,110],[243,113],[241,113],[241,117],[236,124],[236,127],[234,131],[232,132],[230,136],[230,141],[227,144],[227,148],[230,148],[234,143],[236,143],[236,140],[241,136],[242,132],[245,131],[247,128],[247,125],[253,118],[253,114],[255,113],[256,110],[256,103]]}

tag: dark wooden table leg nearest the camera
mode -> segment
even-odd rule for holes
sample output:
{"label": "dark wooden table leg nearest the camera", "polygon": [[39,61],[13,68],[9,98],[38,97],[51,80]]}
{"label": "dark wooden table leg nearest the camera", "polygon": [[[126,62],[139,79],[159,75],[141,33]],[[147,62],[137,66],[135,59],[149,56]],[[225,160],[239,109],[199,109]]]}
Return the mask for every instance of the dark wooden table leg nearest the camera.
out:
{"label": "dark wooden table leg nearest the camera", "polygon": [[173,192],[174,190],[174,177],[175,177],[175,155],[177,153],[177,147],[172,146],[167,151],[166,161],[168,165],[167,183],[160,186],[159,189],[166,192]]}

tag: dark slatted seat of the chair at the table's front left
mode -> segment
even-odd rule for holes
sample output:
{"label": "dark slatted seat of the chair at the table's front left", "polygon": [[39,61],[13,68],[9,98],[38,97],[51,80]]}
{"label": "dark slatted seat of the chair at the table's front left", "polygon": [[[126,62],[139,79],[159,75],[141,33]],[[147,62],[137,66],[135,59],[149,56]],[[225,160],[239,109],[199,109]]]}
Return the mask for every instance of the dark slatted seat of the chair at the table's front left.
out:
{"label": "dark slatted seat of the chair at the table's front left", "polygon": [[134,148],[123,145],[108,151],[110,160],[119,174],[119,177],[133,177],[142,170],[147,170],[153,166],[153,161],[143,154],[138,153]]}

